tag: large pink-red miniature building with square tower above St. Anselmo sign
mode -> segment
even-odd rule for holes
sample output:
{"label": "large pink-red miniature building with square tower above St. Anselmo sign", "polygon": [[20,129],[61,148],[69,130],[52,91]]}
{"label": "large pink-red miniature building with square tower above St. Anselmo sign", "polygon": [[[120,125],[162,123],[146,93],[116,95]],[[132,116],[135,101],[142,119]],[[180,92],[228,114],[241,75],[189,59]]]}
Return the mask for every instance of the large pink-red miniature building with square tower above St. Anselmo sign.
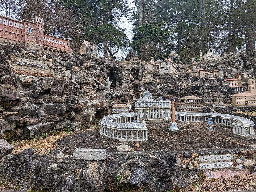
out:
{"label": "large pink-red miniature building with square tower above St. Anselmo sign", "polygon": [[44,19],[18,21],[0,16],[0,40],[38,50],[69,53],[69,40],[44,34]]}

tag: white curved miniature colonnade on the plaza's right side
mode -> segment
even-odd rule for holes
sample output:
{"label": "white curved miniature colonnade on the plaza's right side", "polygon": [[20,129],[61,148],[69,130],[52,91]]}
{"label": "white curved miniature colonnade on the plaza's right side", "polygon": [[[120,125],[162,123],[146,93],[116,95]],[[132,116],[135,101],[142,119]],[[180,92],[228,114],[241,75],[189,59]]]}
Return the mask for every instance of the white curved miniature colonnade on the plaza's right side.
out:
{"label": "white curved miniature colonnade on the plaza's right side", "polygon": [[235,115],[220,113],[187,113],[175,112],[175,119],[180,122],[208,122],[208,118],[212,118],[212,123],[221,124],[233,128],[232,136],[243,139],[251,139],[255,137],[253,131],[254,122]]}

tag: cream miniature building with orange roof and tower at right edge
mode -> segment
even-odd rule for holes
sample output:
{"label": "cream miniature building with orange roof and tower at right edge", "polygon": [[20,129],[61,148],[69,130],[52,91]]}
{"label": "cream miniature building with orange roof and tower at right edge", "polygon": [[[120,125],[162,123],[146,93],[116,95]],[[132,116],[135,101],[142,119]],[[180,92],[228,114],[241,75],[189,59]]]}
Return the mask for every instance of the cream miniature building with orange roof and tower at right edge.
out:
{"label": "cream miniature building with orange roof and tower at right edge", "polygon": [[231,96],[232,105],[236,107],[254,106],[256,107],[256,82],[255,79],[248,79],[247,91],[236,93]]}

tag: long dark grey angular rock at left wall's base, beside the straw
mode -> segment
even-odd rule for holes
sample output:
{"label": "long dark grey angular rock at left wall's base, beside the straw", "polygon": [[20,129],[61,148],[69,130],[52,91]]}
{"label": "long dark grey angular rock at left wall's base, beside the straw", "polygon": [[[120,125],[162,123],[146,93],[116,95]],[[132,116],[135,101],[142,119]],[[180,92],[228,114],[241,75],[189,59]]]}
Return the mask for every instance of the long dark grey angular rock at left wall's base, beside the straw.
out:
{"label": "long dark grey angular rock at left wall's base, beside the straw", "polygon": [[26,138],[32,138],[42,133],[52,131],[55,127],[55,122],[38,123],[36,125],[28,125],[23,130],[23,136]]}

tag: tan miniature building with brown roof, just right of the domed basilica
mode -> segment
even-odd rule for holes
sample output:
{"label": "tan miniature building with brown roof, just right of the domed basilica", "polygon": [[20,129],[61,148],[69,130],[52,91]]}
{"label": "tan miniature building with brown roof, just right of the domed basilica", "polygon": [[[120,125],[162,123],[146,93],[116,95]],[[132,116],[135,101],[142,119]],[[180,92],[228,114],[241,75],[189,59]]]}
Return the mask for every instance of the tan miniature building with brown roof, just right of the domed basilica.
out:
{"label": "tan miniature building with brown roof, just right of the domed basilica", "polygon": [[182,97],[180,103],[175,103],[175,109],[179,112],[202,112],[201,98],[196,96]]}

